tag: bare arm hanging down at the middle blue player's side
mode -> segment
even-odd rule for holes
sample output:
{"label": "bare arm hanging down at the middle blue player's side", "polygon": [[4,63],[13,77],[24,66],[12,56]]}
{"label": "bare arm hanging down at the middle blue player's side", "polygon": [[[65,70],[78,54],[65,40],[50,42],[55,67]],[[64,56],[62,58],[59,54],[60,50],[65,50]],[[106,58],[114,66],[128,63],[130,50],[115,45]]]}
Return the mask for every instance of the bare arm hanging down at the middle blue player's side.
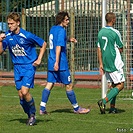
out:
{"label": "bare arm hanging down at the middle blue player's side", "polygon": [[54,64],[55,71],[58,71],[58,69],[59,69],[60,53],[61,53],[61,46],[56,46],[56,61]]}

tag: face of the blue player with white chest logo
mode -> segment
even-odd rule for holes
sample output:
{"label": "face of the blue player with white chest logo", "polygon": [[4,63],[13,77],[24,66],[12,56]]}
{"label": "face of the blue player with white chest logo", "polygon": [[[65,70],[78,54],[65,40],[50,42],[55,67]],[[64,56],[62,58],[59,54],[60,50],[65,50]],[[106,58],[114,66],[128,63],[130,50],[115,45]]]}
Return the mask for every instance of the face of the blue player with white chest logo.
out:
{"label": "face of the blue player with white chest logo", "polygon": [[16,34],[19,33],[19,24],[20,24],[19,21],[16,22],[13,19],[8,19],[7,22],[8,22],[8,27],[9,27],[10,31],[12,31]]}

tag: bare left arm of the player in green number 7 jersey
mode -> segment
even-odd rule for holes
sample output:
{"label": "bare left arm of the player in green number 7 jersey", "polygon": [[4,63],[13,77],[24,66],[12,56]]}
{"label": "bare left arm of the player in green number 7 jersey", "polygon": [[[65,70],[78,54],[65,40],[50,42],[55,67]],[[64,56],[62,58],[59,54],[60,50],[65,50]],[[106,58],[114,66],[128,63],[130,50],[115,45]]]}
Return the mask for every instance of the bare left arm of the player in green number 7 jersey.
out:
{"label": "bare left arm of the player in green number 7 jersey", "polygon": [[101,74],[103,74],[103,62],[102,62],[102,53],[100,47],[97,48],[97,55],[98,55],[98,61],[99,61],[99,71]]}

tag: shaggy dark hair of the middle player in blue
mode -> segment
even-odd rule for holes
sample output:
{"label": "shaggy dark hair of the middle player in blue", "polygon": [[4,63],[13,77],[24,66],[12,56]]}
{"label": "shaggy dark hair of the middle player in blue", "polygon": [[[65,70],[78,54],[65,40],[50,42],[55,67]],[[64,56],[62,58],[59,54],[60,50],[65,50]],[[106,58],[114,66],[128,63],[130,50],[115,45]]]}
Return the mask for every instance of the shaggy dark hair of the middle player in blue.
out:
{"label": "shaggy dark hair of the middle player in blue", "polygon": [[66,16],[69,18],[68,12],[65,11],[59,12],[55,18],[55,25],[61,24],[61,22],[65,19]]}

